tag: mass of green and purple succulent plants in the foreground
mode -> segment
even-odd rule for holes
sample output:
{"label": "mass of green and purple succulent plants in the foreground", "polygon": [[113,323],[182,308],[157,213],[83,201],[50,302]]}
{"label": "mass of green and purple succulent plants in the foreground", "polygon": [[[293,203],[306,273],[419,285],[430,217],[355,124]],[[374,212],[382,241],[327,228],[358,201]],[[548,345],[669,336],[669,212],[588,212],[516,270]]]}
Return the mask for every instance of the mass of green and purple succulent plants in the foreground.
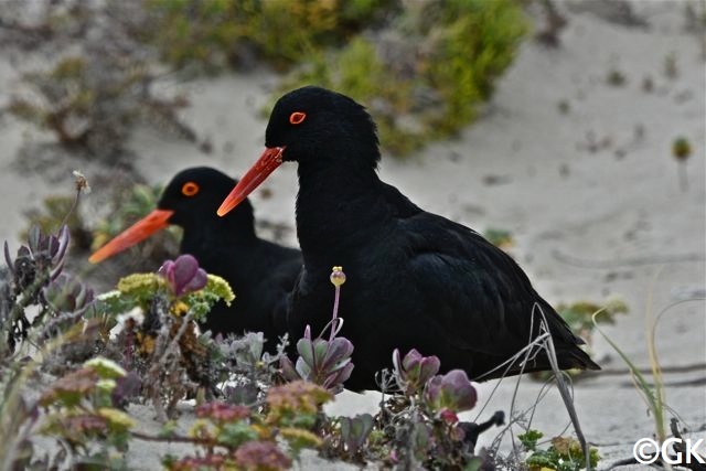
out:
{"label": "mass of green and purple succulent plants in the foreground", "polygon": [[[261,334],[213,339],[199,333],[195,322],[216,302],[229,303],[235,296],[227,282],[199,268],[194,257],[167,260],[157,274],[124,277],[116,290],[94,297],[90,288],[62,271],[68,242],[66,225],[57,235],[34,227],[14,260],[6,250],[9,270],[2,281],[11,291],[1,293],[0,427],[3,435],[18,437],[2,445],[13,469],[47,463],[125,469],[136,439],[189,443],[193,456],[163,457],[169,470],[287,469],[304,448],[402,465],[461,465],[473,459],[457,416],[477,402],[464,372],[438,375],[438,358],[414,350],[403,358],[396,352],[386,387],[389,400],[375,421],[370,415],[328,417],[323,404],[342,390],[353,368],[353,346],[335,336],[335,323],[328,342],[308,333],[298,342],[302,356],[289,367],[307,378],[287,382],[286,343],[270,355],[263,350]],[[331,281],[336,290],[344,280],[335,267]],[[39,313],[30,322],[25,309],[34,306]],[[46,346],[36,357],[22,360],[28,344],[40,341]],[[323,362],[314,360],[320,357]],[[38,370],[55,376],[34,381],[41,394],[32,398],[22,392]],[[201,405],[189,433],[179,435],[168,419],[188,396],[196,396]],[[135,402],[154,408],[165,424],[162,433],[136,430],[124,410]],[[45,456],[34,449],[36,435],[55,443]],[[374,443],[370,450],[367,442]]]}

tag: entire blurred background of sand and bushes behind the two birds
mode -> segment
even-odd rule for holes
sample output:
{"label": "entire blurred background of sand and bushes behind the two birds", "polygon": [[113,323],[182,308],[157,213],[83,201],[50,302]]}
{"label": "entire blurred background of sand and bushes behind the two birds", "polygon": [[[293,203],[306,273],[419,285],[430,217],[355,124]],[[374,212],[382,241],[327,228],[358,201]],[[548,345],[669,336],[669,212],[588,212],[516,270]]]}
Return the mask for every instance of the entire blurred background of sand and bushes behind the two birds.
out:
{"label": "entire blurred background of sand and bushes behind the two birds", "polygon": [[[609,373],[579,383],[587,433],[650,429],[592,330],[607,303],[641,366],[645,312],[665,312],[667,399],[703,430],[705,28],[702,0],[3,0],[0,236],[55,231],[78,170],[75,268],[104,289],[154,270],[176,232],[86,259],[179,170],[238,176],[277,97],[322,85],[373,115],[384,180],[507,250],[588,338]],[[296,192],[284,165],[254,194],[264,236],[297,245]]]}

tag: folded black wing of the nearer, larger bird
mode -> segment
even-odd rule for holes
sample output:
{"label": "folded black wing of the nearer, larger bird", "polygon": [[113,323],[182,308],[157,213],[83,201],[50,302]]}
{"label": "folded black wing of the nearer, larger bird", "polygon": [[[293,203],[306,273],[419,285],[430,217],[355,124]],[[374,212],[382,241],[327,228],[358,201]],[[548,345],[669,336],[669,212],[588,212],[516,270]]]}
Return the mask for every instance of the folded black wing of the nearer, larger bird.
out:
{"label": "folded black wing of the nearer, larger bird", "polygon": [[426,212],[398,224],[408,250],[409,279],[425,293],[427,308],[452,345],[489,354],[506,349],[513,354],[536,335],[537,308],[553,335],[573,344],[579,341],[512,257],[480,234]]}

